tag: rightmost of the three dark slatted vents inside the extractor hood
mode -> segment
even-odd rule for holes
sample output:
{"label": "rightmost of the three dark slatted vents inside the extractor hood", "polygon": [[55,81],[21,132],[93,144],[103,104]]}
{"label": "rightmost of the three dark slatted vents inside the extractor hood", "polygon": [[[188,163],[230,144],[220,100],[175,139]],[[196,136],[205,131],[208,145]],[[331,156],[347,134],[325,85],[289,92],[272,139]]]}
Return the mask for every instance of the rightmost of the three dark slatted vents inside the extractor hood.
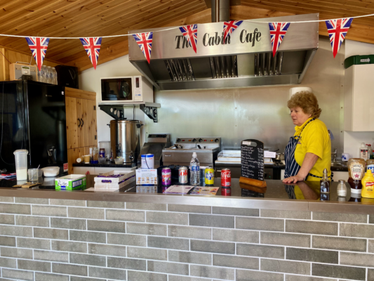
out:
{"label": "rightmost of the three dark slatted vents inside the extractor hood", "polygon": [[255,76],[280,75],[283,63],[283,52],[273,57],[272,53],[255,53]]}

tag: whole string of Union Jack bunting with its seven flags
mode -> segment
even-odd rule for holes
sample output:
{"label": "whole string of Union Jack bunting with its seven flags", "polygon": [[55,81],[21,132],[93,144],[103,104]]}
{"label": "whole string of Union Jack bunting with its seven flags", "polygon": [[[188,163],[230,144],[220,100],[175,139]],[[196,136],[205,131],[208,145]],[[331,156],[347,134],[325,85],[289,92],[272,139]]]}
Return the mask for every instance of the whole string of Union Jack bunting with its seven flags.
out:
{"label": "whole string of Union Jack bunting with its seven flags", "polygon": [[[328,35],[330,37],[330,43],[333,48],[333,55],[338,53],[340,45],[345,39],[349,27],[352,23],[354,18],[364,18],[370,17],[374,14],[370,15],[358,15],[352,18],[339,18],[333,20],[300,20],[294,22],[266,22],[266,21],[259,21],[259,20],[230,20],[228,22],[223,22],[223,43],[227,39],[227,36],[234,32],[242,22],[251,22],[251,23],[262,23],[269,25],[269,32],[271,37],[271,44],[272,44],[272,53],[273,57],[276,55],[276,51],[283,41],[283,38],[286,35],[288,27],[290,27],[291,23],[306,23],[306,22],[326,22],[326,27],[328,29]],[[84,46],[84,49],[87,52],[88,58],[91,60],[93,67],[96,69],[98,65],[98,58],[100,53],[101,41],[102,38],[113,38],[113,37],[125,37],[125,36],[133,36],[135,41],[138,43],[140,50],[145,55],[147,62],[150,63],[151,60],[151,51],[152,51],[152,40],[153,40],[153,33],[154,32],[163,32],[166,30],[176,30],[179,29],[182,32],[185,39],[188,41],[189,46],[191,46],[195,53],[197,53],[197,30],[198,25],[185,25],[182,27],[168,27],[163,28],[161,30],[154,30],[153,32],[145,32],[145,33],[129,33],[129,34],[119,34],[119,35],[109,35],[109,36],[102,36],[102,37],[25,37],[21,35],[10,35],[10,34],[0,34],[3,37],[18,37],[18,38],[25,38],[27,40],[27,44],[32,51],[32,55],[36,61],[36,65],[38,66],[39,70],[41,70],[41,66],[43,65],[44,58],[46,56],[46,51],[48,48],[48,43],[50,39],[80,39],[81,43]]]}

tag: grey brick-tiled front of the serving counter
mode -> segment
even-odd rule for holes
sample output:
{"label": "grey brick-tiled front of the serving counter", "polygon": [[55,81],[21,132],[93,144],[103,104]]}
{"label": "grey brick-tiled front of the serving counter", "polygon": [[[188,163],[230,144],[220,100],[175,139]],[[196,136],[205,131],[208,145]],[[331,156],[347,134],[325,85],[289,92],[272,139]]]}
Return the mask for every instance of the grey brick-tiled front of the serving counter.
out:
{"label": "grey brick-tiled front of the serving counter", "polygon": [[366,214],[0,202],[0,280],[374,280]]}

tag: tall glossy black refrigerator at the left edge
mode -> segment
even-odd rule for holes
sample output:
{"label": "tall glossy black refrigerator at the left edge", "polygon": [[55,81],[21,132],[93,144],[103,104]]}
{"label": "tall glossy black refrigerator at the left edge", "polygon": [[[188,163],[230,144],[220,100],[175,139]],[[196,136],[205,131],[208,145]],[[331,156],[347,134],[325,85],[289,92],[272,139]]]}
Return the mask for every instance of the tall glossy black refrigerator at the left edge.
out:
{"label": "tall glossy black refrigerator at the left edge", "polygon": [[67,171],[64,92],[37,81],[0,81],[0,169],[15,171],[13,152],[26,149],[27,168]]}

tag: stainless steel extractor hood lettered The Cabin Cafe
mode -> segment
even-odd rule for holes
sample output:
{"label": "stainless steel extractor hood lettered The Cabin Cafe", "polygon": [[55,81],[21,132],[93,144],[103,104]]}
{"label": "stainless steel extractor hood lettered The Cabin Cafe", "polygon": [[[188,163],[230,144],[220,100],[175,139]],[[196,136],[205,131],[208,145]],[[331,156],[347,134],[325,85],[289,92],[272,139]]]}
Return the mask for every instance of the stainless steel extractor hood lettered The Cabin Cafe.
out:
{"label": "stainless steel extractor hood lettered The Cabin Cafe", "polygon": [[244,21],[222,44],[222,22],[199,24],[197,53],[178,28],[154,32],[150,63],[133,37],[128,58],[159,90],[215,89],[300,84],[318,49],[318,22],[290,25],[273,58],[269,25],[264,22],[319,20],[319,14]]}

